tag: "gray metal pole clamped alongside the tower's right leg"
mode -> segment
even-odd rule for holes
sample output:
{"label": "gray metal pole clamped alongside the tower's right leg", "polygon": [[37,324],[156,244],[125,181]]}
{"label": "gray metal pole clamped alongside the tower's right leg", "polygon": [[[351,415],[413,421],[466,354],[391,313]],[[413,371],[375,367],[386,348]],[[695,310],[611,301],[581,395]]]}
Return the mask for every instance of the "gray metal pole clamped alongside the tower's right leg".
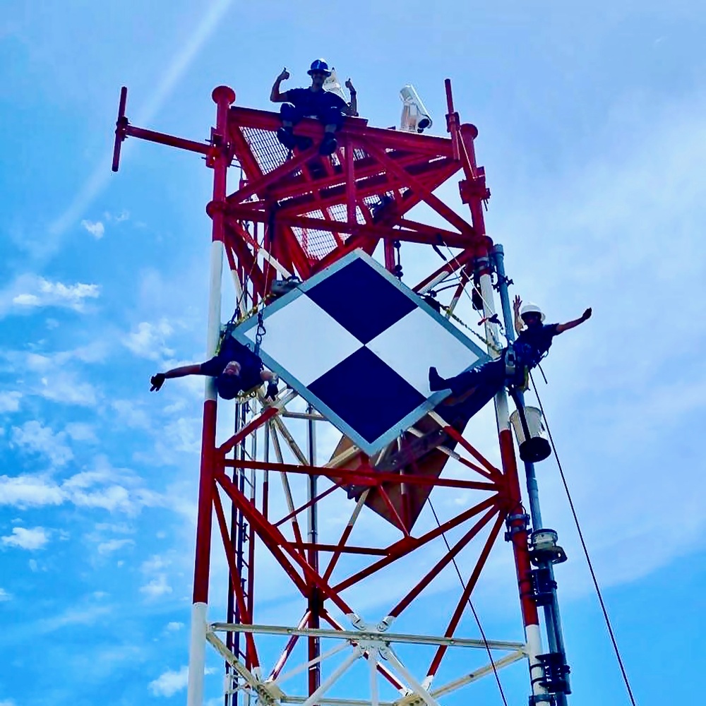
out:
{"label": "gray metal pole clamped alongside the tower's right leg", "polygon": [[[491,261],[495,266],[498,275],[498,294],[503,308],[503,321],[505,325],[505,336],[508,342],[515,340],[515,316],[510,304],[510,293],[508,292],[508,277],[505,275],[505,251],[503,246],[498,244],[493,246]],[[517,395],[522,407],[525,406],[525,395],[521,392]],[[530,500],[530,516],[532,517],[532,528],[542,529],[542,510],[539,508],[539,486],[537,486],[537,475],[534,473],[534,463],[525,461],[525,476],[527,477],[527,496]],[[541,563],[539,568],[549,570],[549,578],[554,581],[554,566],[551,562]],[[556,589],[551,590],[551,603],[544,606],[544,624],[546,627],[546,641],[551,652],[561,652],[566,655],[564,647],[563,633],[561,630],[561,616],[559,614],[559,602]],[[568,681],[568,676],[567,676]],[[557,706],[567,706],[565,694],[556,695]]]}

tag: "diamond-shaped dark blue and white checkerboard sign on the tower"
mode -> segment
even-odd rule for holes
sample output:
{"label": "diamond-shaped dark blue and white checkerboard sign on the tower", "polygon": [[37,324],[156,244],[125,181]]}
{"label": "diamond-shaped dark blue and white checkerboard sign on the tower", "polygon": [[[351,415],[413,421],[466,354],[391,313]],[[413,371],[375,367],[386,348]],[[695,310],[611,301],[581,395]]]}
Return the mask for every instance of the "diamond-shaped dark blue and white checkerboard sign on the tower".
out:
{"label": "diamond-shaped dark blue and white checkerboard sign on the tower", "polygon": [[[429,366],[443,376],[489,357],[362,251],[349,253],[263,310],[260,355],[365,453],[436,407]],[[254,344],[255,316],[233,335]]]}

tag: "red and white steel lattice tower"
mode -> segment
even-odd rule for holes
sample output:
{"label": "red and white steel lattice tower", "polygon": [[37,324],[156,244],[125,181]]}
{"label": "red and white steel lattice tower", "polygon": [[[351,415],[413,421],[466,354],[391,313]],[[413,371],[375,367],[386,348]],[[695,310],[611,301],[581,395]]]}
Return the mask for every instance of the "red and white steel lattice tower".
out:
{"label": "red and white steel lattice tower", "polygon": [[[439,246],[453,249],[453,256],[413,289],[420,295],[429,294],[454,278],[457,285],[452,287],[445,307],[450,314],[465,288],[473,287],[485,318],[484,334],[491,342],[491,354],[497,354],[501,347],[498,316],[503,316],[505,330],[513,325],[503,251],[486,235],[483,207],[490,192],[484,169],[476,163],[477,129],[461,124],[448,80],[448,138],[374,128],[364,119],[348,118],[337,133],[339,148],[332,157],[323,159],[318,157],[316,146],[288,155],[275,136],[279,116],[234,106],[235,94],[224,86],[213,91],[217,116],[208,143],[132,126],[125,116],[126,95],[123,88],[114,171],[121,143],[127,137],[196,152],[213,170],[213,199],[207,207],[213,221],[209,354],[217,346],[222,326],[224,262],[232,273],[240,313],[246,315],[266,304],[277,278],[297,275],[307,280],[356,249],[370,255],[381,250],[385,268],[399,275],[399,249],[404,243],[427,246],[430,252]],[[318,122],[305,119],[298,131],[316,145],[321,140],[321,129]],[[238,188],[229,191],[227,174],[234,164],[241,167],[242,178]],[[469,208],[469,220],[434,195],[439,186],[454,178],[458,178],[461,201]],[[426,203],[445,225],[438,227],[408,217],[420,203]],[[436,255],[429,258],[433,260],[438,262]],[[502,304],[498,316],[493,304],[496,290]],[[499,444],[501,467],[487,460],[464,436],[467,419],[452,422],[436,412],[421,419],[400,436],[393,448],[374,458],[343,437],[333,455],[322,462],[316,428],[325,424],[325,418],[311,406],[302,409],[301,401],[297,407],[296,397],[296,393],[287,391],[271,405],[261,395],[239,402],[235,433],[217,440],[216,393],[213,384],[207,384],[198,484],[189,706],[203,704],[207,643],[225,661],[226,706],[254,702],[436,706],[447,702],[447,694],[518,659],[528,661],[531,702],[566,703],[568,685],[558,683],[566,669],[556,593],[551,580],[549,590],[543,592],[538,587],[537,570],[532,568],[531,559],[536,557],[530,551],[530,518],[522,507],[505,392],[495,399],[498,433],[493,443]],[[293,425],[299,428],[293,429]],[[273,479],[282,484],[277,501]],[[323,483],[327,484],[325,489]],[[297,501],[297,493],[304,502]],[[469,493],[472,501],[457,505],[458,511],[442,517],[438,526],[416,529],[415,522],[430,496],[441,497],[442,493]],[[534,517],[536,493],[530,499],[534,503],[534,527],[538,529],[541,520]],[[287,507],[284,514],[277,507],[281,504]],[[319,521],[324,507],[334,507],[348,519],[337,527],[330,522],[324,526]],[[536,510],[539,516],[538,505]],[[357,523],[366,515],[377,517],[379,522],[384,518],[389,531],[375,537],[358,532]],[[515,560],[525,640],[460,638],[457,628],[469,597],[503,529]],[[391,541],[390,532],[396,533]],[[447,534],[453,537],[450,550],[443,549],[441,558],[430,561],[424,551],[431,543],[445,540]],[[207,617],[212,544],[222,545],[229,567],[227,611],[217,622],[209,622],[214,616]],[[463,577],[457,602],[448,611],[440,607],[440,614],[445,614],[443,629],[436,635],[396,633],[394,621],[403,612],[414,611],[419,594],[461,551],[465,551],[464,556],[472,556],[472,568]],[[414,563],[416,574],[410,575],[409,562],[415,556],[420,556]],[[405,560],[407,573],[390,574]],[[261,563],[279,566],[281,580],[289,582],[299,596],[296,621],[286,625],[258,622],[258,614],[263,612],[258,604]],[[551,573],[551,563],[548,568]],[[399,582],[400,589],[389,609],[368,623],[357,602],[361,591],[371,590],[366,586],[372,585],[374,590],[380,585],[381,575],[392,575],[387,580]],[[544,606],[548,618],[547,654],[543,654],[538,606]],[[275,654],[272,645],[277,640],[282,645]],[[289,675],[306,674],[306,679],[299,684],[300,693],[296,687],[285,692],[283,677],[300,640],[306,644],[306,659],[298,669],[289,670]],[[323,650],[324,643],[335,647]],[[402,662],[398,650],[409,648],[401,645],[433,649],[423,671],[417,659],[412,660],[414,667]],[[491,664],[462,670],[438,684],[435,677],[450,648],[477,648],[485,653],[486,661],[492,651]],[[365,684],[345,681],[347,670],[356,662],[369,666],[370,677]],[[347,693],[332,698],[330,689],[335,689],[337,681]],[[393,686],[394,698],[383,698],[380,681]],[[356,693],[349,693],[351,690]]]}

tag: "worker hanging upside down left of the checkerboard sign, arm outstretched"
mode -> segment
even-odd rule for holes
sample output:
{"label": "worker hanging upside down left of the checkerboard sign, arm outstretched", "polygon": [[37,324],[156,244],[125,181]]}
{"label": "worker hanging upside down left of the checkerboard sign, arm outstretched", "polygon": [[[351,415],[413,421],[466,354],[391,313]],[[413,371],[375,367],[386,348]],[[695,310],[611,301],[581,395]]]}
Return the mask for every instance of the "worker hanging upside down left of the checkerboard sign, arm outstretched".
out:
{"label": "worker hanging upside down left of the checkerboard sign, arm outstretched", "polygon": [[239,393],[257,388],[264,382],[269,383],[265,396],[274,400],[277,395],[277,378],[275,373],[263,370],[263,367],[263,361],[258,355],[228,335],[217,354],[205,363],[184,365],[153,375],[150,379],[150,392],[160,390],[167,378],[206,375],[216,378],[216,390],[224,400],[232,400]]}

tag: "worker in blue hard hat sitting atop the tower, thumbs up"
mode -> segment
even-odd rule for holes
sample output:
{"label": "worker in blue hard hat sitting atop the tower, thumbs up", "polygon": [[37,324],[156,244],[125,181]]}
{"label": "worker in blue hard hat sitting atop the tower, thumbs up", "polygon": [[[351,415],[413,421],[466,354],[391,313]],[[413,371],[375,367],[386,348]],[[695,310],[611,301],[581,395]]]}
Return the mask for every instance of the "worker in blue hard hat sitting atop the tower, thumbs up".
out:
{"label": "worker in blue hard hat sitting atop the tower, thumbs up", "polygon": [[311,76],[309,88],[290,88],[284,93],[280,92],[280,84],[289,78],[287,68],[283,68],[282,73],[275,79],[270,100],[273,103],[282,103],[280,108],[282,127],[277,130],[277,139],[288,150],[294,147],[308,148],[311,140],[307,137],[295,136],[294,126],[302,118],[317,118],[323,123],[323,140],[318,151],[321,155],[332,155],[337,148],[335,132],[342,126],[345,116],[358,114],[356,90],[348,79],[346,88],[351,94],[349,103],[334,92],[325,90],[323,83],[331,72],[323,59],[316,59],[307,73]]}

